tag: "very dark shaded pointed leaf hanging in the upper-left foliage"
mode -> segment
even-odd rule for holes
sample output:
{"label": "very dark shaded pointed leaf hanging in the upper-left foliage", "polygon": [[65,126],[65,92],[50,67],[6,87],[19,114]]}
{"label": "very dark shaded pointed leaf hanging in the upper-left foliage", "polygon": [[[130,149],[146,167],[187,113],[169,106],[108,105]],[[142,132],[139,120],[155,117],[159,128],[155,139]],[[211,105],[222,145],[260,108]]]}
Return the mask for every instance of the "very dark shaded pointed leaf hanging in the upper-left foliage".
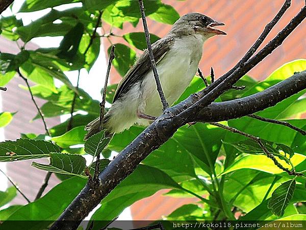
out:
{"label": "very dark shaded pointed leaf hanging in the upper-left foliage", "polygon": [[83,33],[84,25],[81,22],[71,28],[60,43],[58,56],[72,61],[79,50]]}

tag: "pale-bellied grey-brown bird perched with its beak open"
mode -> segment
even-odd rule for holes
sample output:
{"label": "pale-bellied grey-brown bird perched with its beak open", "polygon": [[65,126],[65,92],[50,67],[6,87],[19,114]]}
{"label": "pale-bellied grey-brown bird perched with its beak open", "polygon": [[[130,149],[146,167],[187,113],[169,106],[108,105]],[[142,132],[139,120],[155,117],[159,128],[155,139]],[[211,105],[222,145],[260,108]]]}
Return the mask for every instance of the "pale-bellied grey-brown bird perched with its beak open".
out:
{"label": "pale-bellied grey-brown bird perched with its beak open", "polygon": [[[152,44],[156,68],[168,104],[172,105],[180,98],[196,74],[203,43],[215,35],[226,35],[215,28],[224,25],[201,13],[188,13],[173,24],[165,37]],[[145,50],[118,84],[112,106],[105,114],[103,128],[112,135],[134,124],[148,126],[162,112],[149,54]],[[86,125],[84,139],[99,132],[99,126],[99,118]]]}

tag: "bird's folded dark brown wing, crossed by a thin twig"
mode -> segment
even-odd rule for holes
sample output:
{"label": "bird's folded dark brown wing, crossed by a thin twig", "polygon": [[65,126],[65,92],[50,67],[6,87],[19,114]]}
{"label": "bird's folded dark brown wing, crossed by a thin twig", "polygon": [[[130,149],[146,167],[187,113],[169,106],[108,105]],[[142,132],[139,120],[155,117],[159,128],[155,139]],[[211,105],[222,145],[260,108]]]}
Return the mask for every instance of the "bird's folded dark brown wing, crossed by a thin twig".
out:
{"label": "bird's folded dark brown wing, crossed by a thin twig", "polygon": [[[172,36],[167,36],[165,38],[157,40],[154,44],[152,44],[152,51],[156,64],[163,59],[163,57],[169,51],[173,43],[174,38]],[[139,80],[142,80],[145,77],[146,73],[148,73],[150,70],[151,62],[148,51],[145,50],[142,56],[130,68],[130,70],[125,74],[123,79],[118,84],[113,102],[115,102],[123,94],[129,91],[129,89],[133,85],[135,85],[135,83],[137,83]]]}

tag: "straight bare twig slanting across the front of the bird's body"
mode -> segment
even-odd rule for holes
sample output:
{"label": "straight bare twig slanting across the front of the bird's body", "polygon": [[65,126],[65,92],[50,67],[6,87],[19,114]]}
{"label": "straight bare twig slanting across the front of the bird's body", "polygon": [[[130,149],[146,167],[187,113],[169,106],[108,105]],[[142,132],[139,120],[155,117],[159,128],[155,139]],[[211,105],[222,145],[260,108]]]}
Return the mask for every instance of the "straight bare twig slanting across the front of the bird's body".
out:
{"label": "straight bare twig slanting across the front of the bird's body", "polygon": [[153,51],[152,51],[152,47],[151,47],[151,42],[150,42],[150,34],[149,34],[149,30],[148,30],[148,26],[146,23],[146,19],[145,19],[145,13],[144,13],[144,6],[143,6],[143,0],[139,0],[139,8],[140,8],[140,13],[141,13],[141,18],[142,18],[142,23],[143,23],[143,29],[144,29],[144,34],[145,34],[145,40],[147,43],[147,47],[148,47],[148,53],[149,53],[149,57],[150,57],[150,62],[151,62],[151,67],[152,67],[152,71],[154,74],[154,78],[156,81],[156,86],[157,86],[157,90],[159,93],[159,96],[161,98],[161,102],[163,104],[163,110],[167,109],[169,107],[168,102],[166,101],[163,89],[162,89],[162,85],[159,79],[159,75],[156,69],[156,62],[154,59],[154,55],[153,55]]}

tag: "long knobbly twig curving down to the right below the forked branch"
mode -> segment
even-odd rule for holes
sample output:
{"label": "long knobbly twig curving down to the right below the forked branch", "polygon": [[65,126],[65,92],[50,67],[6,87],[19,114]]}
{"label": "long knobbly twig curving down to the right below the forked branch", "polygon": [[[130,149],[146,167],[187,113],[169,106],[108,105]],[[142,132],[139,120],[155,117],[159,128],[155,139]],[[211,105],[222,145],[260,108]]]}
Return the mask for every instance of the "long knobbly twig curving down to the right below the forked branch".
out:
{"label": "long knobbly twig curving down to the right below the forked branch", "polygon": [[209,124],[214,125],[214,126],[218,126],[218,127],[222,128],[222,129],[226,129],[226,130],[234,132],[234,133],[238,133],[240,135],[248,137],[249,139],[251,139],[253,141],[256,141],[259,144],[259,146],[263,149],[263,151],[266,154],[266,156],[269,157],[270,159],[272,159],[273,162],[274,162],[274,165],[276,165],[279,169],[282,169],[283,171],[287,172],[289,175],[303,176],[303,174],[295,172],[294,169],[292,171],[290,171],[289,169],[287,169],[284,166],[282,166],[281,164],[279,164],[277,162],[277,159],[275,158],[275,156],[268,151],[268,149],[262,143],[261,139],[258,136],[253,136],[253,135],[248,134],[246,132],[240,131],[240,130],[235,129],[233,127],[228,127],[226,125],[222,125],[222,124],[217,123],[217,122],[209,122]]}

